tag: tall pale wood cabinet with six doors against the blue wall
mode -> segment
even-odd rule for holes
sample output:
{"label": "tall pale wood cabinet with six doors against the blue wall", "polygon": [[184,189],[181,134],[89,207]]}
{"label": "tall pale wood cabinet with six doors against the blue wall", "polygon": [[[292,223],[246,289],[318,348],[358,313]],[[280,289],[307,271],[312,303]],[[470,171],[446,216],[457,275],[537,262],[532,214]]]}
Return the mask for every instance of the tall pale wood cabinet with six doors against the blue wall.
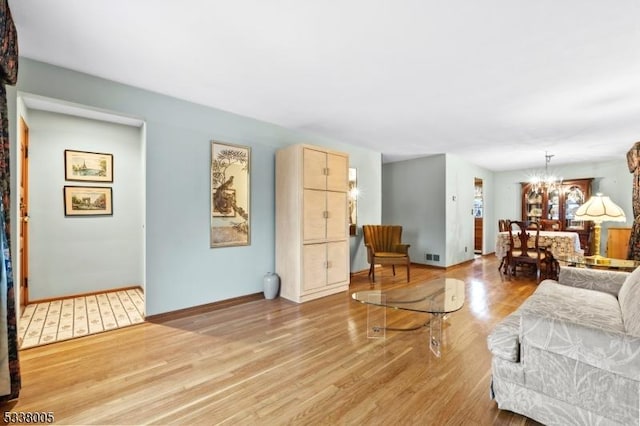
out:
{"label": "tall pale wood cabinet with six doors against the blue wall", "polygon": [[349,157],[312,145],[276,153],[276,272],[294,302],[349,287]]}

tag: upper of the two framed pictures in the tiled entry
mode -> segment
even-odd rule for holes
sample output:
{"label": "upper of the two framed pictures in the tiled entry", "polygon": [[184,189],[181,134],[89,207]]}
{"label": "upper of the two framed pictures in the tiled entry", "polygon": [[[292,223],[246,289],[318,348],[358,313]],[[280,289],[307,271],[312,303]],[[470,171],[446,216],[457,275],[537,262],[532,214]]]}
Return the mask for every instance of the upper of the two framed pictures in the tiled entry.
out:
{"label": "upper of the two framed pictures in the tiled entry", "polygon": [[65,149],[64,178],[85,182],[113,182],[113,155]]}

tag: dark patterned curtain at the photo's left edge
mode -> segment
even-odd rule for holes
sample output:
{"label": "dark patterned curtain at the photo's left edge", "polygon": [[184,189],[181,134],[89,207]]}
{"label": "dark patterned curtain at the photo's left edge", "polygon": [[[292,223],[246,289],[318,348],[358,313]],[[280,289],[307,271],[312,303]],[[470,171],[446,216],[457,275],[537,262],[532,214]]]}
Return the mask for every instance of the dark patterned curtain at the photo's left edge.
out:
{"label": "dark patterned curtain at the photo's left edge", "polygon": [[16,330],[15,293],[11,269],[11,224],[9,220],[9,120],[6,84],[18,80],[18,35],[8,0],[0,0],[0,400],[18,397],[20,364]]}

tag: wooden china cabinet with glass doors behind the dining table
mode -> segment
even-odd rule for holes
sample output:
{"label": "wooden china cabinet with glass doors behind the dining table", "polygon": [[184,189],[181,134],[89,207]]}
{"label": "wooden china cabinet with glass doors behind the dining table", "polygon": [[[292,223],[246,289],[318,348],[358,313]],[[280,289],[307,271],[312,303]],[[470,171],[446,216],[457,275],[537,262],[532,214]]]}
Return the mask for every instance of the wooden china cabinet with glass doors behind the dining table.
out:
{"label": "wooden china cabinet with glass doors behind the dining table", "polygon": [[575,220],[574,215],[591,196],[592,180],[567,180],[550,188],[522,183],[522,220],[540,222],[543,229],[577,232],[585,255],[591,254],[592,223]]}

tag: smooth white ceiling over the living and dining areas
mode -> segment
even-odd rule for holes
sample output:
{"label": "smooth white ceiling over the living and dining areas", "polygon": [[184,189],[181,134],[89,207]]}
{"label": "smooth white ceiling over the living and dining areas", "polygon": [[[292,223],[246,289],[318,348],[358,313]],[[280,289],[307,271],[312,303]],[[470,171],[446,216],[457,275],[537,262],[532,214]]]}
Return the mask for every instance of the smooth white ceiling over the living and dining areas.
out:
{"label": "smooth white ceiling over the living and dining areas", "polygon": [[20,55],[490,170],[640,141],[639,0],[11,0]]}

